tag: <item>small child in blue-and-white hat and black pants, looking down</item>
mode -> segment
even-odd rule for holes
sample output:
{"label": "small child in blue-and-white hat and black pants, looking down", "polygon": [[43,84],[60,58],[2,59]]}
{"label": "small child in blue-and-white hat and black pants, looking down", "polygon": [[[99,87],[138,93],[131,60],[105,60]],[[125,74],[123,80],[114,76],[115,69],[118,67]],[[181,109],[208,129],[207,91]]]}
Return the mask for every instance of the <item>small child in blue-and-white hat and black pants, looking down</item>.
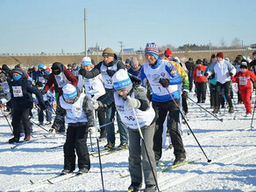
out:
{"label": "small child in blue-and-white hat and black pants, looking down", "polygon": [[75,170],[75,151],[78,156],[78,175],[89,172],[90,161],[87,147],[88,132],[94,127],[93,112],[88,107],[88,97],[80,93],[71,84],[62,88],[60,105],[57,106],[52,134],[59,130],[66,116],[68,123],[67,138],[64,144],[64,169],[60,175],[66,175]]}

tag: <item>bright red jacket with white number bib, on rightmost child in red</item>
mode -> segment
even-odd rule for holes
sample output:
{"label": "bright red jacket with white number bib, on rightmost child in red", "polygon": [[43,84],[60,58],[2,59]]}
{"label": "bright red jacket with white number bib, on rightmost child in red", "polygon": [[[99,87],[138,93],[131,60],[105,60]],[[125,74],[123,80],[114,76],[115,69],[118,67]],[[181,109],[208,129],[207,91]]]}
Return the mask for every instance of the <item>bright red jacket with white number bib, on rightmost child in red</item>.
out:
{"label": "bright red jacket with white number bib, on rightmost child in red", "polygon": [[256,76],[253,72],[247,70],[246,72],[237,72],[232,79],[232,82],[238,83],[239,90],[252,89],[252,84],[255,84]]}

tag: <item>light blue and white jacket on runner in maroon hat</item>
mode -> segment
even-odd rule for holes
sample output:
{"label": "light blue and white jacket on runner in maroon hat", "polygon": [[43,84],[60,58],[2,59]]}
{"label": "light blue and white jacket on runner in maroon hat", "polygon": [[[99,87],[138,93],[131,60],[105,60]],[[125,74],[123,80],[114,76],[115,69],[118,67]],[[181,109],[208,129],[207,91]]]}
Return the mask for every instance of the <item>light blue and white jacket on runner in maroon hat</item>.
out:
{"label": "light blue and white jacket on runner in maroon hat", "polygon": [[215,78],[217,82],[221,84],[224,84],[227,81],[231,81],[230,72],[233,75],[236,74],[236,68],[226,60],[222,60],[220,63],[216,61],[215,63],[210,65],[209,69],[207,70],[209,76],[215,73]]}

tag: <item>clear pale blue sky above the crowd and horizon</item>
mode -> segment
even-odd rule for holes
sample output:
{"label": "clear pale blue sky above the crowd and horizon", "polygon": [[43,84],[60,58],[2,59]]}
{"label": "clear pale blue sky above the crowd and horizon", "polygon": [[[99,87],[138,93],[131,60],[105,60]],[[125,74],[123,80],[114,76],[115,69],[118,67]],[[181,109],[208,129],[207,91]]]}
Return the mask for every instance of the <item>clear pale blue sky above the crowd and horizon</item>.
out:
{"label": "clear pale blue sky above the crowd and horizon", "polygon": [[120,51],[157,45],[255,44],[255,0],[0,0],[0,53]]}

